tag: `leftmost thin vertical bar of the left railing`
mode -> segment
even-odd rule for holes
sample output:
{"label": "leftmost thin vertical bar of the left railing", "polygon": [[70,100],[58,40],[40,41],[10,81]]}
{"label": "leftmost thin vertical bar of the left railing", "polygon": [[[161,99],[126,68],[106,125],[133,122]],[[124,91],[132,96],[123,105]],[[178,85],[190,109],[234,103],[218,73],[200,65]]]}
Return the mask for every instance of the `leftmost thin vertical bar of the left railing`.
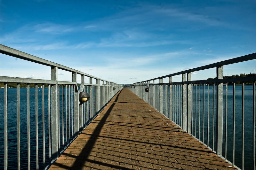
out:
{"label": "leftmost thin vertical bar of the left railing", "polygon": [[4,84],[4,170],[8,167],[7,83]]}

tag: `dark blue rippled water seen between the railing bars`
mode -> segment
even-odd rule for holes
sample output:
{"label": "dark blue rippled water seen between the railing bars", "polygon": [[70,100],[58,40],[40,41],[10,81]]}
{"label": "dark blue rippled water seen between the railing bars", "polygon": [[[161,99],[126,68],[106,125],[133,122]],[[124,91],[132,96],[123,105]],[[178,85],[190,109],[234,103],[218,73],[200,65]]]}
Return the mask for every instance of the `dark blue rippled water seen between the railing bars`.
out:
{"label": "dark blue rippled water seen between the railing bars", "polygon": [[[224,128],[223,131],[225,133],[225,86],[224,88]],[[36,166],[36,139],[35,139],[35,88],[30,88],[30,147],[31,147],[31,167]],[[40,155],[43,155],[43,135],[42,135],[42,89],[38,88],[38,145],[39,145],[39,168],[43,169],[43,158]],[[61,91],[61,89],[60,89]],[[200,110],[200,139],[203,140],[203,119],[205,120],[205,131],[204,131],[204,143],[207,143],[207,91],[208,87],[205,87],[205,117],[203,118],[203,86],[201,86],[201,110]],[[216,102],[213,107],[213,89],[210,86],[210,116],[209,116],[209,146],[212,148],[212,127],[213,127],[213,108],[215,109],[215,139],[216,139]],[[216,92],[216,87],[215,87]],[[8,169],[16,169],[17,168],[17,89],[8,89]],[[48,88],[45,88],[45,137],[46,144],[45,148],[48,148]],[[195,97],[195,87],[193,91]],[[228,147],[227,147],[227,158],[229,161],[233,159],[233,86],[228,86]],[[252,86],[245,86],[245,107],[244,107],[244,168],[245,169],[253,169],[253,152],[252,152]],[[199,137],[199,86],[197,86],[197,110],[195,110],[195,98],[194,98],[194,106],[193,106],[193,135]],[[215,95],[216,100],[216,95]],[[65,100],[64,100],[65,101]],[[238,167],[242,166],[242,86],[236,86],[236,139],[235,139],[235,164]],[[195,117],[197,116],[197,117]],[[0,119],[4,120],[4,89],[0,89]],[[195,120],[197,124],[197,128],[195,128]],[[21,169],[27,169],[27,89],[20,89],[20,155],[21,155]],[[223,135],[223,141],[225,142],[225,135]],[[216,144],[216,142],[215,142]],[[4,146],[4,121],[0,122],[0,145]],[[214,146],[214,149],[216,146]],[[223,143],[223,155],[225,155],[225,143]],[[49,161],[48,158],[48,150],[46,150],[46,162]],[[4,147],[0,147],[0,169],[4,167]],[[32,168],[33,169],[33,168]]]}

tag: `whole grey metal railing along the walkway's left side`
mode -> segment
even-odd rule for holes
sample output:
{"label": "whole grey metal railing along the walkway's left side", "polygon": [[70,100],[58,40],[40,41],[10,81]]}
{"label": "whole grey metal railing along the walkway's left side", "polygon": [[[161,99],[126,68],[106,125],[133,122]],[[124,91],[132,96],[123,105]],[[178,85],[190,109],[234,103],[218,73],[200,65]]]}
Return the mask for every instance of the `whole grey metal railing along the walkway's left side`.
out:
{"label": "whole grey metal railing along the walkway's left side", "polygon": [[[123,88],[1,44],[0,53],[51,68],[51,80],[0,76],[0,82],[4,83],[4,89],[0,89],[3,92],[0,91],[3,95],[0,96],[3,99],[0,100],[0,116],[4,115],[1,126],[1,132],[4,132],[1,140],[4,142],[0,140],[4,149],[1,150],[0,167],[5,170],[47,169]],[[72,72],[72,82],[58,81],[58,69]],[[80,86],[78,75],[81,75]],[[89,77],[90,83],[85,83],[85,77]],[[96,79],[96,84],[92,83],[93,79]],[[17,91],[8,88],[7,83],[17,83]],[[21,83],[27,83],[27,89],[20,88]],[[35,88],[30,88],[32,83],[36,84]],[[39,88],[38,84],[42,87]],[[90,94],[90,100],[79,105],[78,94],[82,91]],[[17,103],[14,102],[16,99]],[[8,135],[10,132],[15,135]]]}

